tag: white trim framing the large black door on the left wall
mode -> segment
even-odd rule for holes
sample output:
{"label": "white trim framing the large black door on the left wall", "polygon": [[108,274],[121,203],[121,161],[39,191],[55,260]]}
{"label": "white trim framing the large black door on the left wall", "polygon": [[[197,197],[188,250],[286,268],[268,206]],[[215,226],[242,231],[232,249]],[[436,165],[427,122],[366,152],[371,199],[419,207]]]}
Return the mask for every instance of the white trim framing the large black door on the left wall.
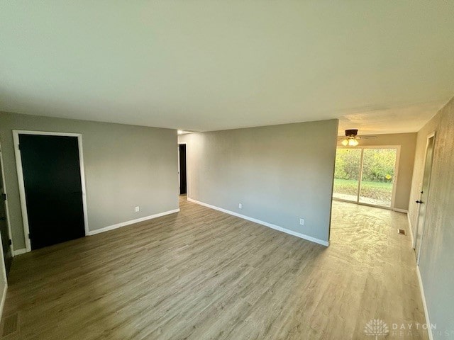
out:
{"label": "white trim framing the large black door on the left wall", "polygon": [[77,137],[77,144],[79,147],[80,181],[82,184],[82,207],[83,207],[82,210],[84,211],[85,236],[87,236],[89,234],[89,229],[88,229],[88,215],[87,215],[87,191],[85,189],[84,152],[82,149],[82,134],[81,133],[71,133],[71,132],[13,130],[14,154],[16,155],[16,170],[17,170],[17,179],[18,179],[18,186],[19,186],[19,197],[21,198],[21,210],[22,210],[22,221],[23,221],[23,237],[26,242],[26,250],[31,251],[31,242],[30,242],[30,239],[28,238],[28,234],[30,233],[30,228],[28,226],[26,191],[25,191],[25,184],[23,181],[21,150],[19,149],[19,135]]}

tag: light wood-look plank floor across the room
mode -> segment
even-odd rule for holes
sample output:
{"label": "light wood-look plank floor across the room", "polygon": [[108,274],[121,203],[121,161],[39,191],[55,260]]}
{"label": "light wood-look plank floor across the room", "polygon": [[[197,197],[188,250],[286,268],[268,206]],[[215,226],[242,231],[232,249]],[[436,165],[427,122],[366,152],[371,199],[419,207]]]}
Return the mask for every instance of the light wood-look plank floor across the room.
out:
{"label": "light wood-look plank floor across the room", "polygon": [[[406,215],[334,202],[326,248],[182,199],[15,257],[1,330],[18,329],[3,339],[372,339],[370,319],[424,322],[397,227]],[[404,333],[387,339],[426,339]]]}

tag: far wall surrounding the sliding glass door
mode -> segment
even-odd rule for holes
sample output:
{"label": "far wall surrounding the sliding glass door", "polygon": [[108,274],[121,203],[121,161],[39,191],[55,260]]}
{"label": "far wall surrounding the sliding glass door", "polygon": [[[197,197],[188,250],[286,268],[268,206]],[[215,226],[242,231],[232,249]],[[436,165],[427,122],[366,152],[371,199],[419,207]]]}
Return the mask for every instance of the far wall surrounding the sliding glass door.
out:
{"label": "far wall surrounding the sliding glass door", "polygon": [[[413,176],[414,153],[416,146],[416,132],[396,133],[377,135],[377,138],[362,139],[360,145],[363,146],[387,146],[400,145],[399,169],[397,172],[396,198],[394,207],[397,209],[408,210],[411,178]],[[341,146],[342,140],[338,141]]]}

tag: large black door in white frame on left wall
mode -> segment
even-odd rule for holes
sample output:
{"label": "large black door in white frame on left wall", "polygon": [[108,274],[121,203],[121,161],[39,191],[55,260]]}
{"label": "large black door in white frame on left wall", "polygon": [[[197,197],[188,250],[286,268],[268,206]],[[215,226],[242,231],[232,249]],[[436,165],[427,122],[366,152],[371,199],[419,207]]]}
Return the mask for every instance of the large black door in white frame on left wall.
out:
{"label": "large black door in white frame on left wall", "polygon": [[31,248],[85,235],[77,137],[19,135]]}

